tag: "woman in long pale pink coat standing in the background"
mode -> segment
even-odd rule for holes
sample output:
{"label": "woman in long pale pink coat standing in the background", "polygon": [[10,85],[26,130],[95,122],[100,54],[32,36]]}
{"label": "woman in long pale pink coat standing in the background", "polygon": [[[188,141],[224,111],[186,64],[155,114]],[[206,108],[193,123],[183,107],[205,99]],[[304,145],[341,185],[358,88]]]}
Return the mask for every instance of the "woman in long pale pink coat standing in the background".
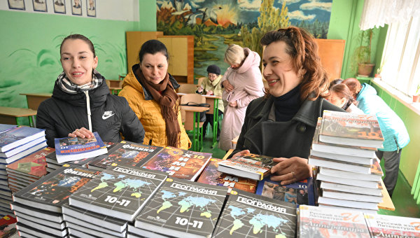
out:
{"label": "woman in long pale pink coat standing in the background", "polygon": [[258,97],[262,97],[262,76],[258,66],[260,55],[239,45],[230,45],[225,52],[225,62],[230,67],[221,82],[225,90],[222,94],[225,105],[219,148],[228,151],[235,148],[232,139],[239,136],[244,124],[246,107]]}

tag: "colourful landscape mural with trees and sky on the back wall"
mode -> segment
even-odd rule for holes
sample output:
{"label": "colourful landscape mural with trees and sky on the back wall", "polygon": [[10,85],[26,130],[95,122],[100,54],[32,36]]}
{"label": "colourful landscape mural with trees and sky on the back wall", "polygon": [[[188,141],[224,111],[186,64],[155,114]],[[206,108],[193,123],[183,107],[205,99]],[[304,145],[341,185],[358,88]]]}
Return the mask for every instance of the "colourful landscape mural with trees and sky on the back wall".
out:
{"label": "colourful landscape mural with trees and sky on the back wall", "polygon": [[222,73],[226,48],[236,43],[261,54],[267,31],[304,27],[316,38],[327,38],[332,0],[157,0],[158,31],[194,35],[195,78],[207,76],[217,64]]}

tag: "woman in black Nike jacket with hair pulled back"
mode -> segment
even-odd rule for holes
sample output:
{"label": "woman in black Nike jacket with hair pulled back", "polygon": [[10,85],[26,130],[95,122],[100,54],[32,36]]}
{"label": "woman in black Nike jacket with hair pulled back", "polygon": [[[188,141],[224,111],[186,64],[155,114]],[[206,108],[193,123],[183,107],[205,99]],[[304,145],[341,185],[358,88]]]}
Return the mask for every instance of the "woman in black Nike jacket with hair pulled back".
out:
{"label": "woman in black Nike jacket with hair pulled back", "polygon": [[109,93],[96,71],[98,57],[92,42],[80,34],[64,38],[60,46],[63,71],[55,80],[52,97],[38,107],[36,127],[45,129],[48,146],[61,137],[93,137],[103,141],[143,143],[144,128],[123,97]]}

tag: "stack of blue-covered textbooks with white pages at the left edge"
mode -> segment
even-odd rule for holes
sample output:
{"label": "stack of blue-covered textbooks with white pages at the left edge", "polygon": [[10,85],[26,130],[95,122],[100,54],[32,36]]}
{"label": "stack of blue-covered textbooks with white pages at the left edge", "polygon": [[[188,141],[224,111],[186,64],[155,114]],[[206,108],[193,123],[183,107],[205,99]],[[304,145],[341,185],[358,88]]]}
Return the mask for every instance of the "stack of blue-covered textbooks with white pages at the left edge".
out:
{"label": "stack of blue-covered textbooks with white pages at the left edge", "polygon": [[[32,127],[0,124],[0,215],[11,214],[12,190],[18,189],[13,183],[9,188],[6,166],[46,147],[45,131]],[[20,186],[21,188],[22,186]]]}

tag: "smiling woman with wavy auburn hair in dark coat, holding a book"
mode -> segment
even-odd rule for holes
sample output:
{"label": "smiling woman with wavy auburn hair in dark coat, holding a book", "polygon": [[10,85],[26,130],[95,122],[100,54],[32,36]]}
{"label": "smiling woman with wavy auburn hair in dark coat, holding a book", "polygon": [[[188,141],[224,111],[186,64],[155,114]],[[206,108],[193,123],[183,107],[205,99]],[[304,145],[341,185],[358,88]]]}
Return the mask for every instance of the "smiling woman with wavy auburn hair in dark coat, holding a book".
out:
{"label": "smiling woman with wavy auburn hair in dark coat, holding a book", "polygon": [[311,176],[309,149],[316,121],[323,110],[344,111],[323,97],[328,78],[321,66],[318,45],[304,29],[288,27],[261,38],[265,97],[253,100],[232,153],[276,157],[273,181],[281,185]]}

